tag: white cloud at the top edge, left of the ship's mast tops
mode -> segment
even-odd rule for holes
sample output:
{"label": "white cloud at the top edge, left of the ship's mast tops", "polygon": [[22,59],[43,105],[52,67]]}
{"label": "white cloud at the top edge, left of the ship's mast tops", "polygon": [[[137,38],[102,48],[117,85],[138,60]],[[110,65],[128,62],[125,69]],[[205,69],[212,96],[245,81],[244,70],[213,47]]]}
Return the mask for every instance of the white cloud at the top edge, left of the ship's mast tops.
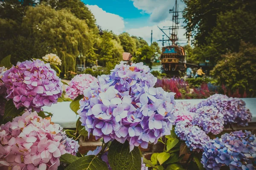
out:
{"label": "white cloud at the top edge, left of the ship's mast tops", "polygon": [[[168,17],[171,18],[169,14],[169,9],[175,5],[175,0],[131,0],[134,6],[143,12],[150,14],[150,20],[152,22],[159,23],[166,20]],[[184,4],[178,0],[178,5],[183,8]],[[180,10],[179,8],[179,10]]]}

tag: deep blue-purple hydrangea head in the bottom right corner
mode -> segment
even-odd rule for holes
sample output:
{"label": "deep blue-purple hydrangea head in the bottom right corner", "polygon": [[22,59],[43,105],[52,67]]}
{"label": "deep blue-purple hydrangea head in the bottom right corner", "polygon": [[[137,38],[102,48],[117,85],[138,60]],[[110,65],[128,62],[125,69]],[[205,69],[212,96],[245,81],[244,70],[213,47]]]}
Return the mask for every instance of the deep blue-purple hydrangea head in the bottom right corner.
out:
{"label": "deep blue-purple hydrangea head in the bottom right corner", "polygon": [[230,170],[255,170],[256,137],[250,131],[225,133],[204,146],[201,163],[207,170],[219,170],[229,166]]}

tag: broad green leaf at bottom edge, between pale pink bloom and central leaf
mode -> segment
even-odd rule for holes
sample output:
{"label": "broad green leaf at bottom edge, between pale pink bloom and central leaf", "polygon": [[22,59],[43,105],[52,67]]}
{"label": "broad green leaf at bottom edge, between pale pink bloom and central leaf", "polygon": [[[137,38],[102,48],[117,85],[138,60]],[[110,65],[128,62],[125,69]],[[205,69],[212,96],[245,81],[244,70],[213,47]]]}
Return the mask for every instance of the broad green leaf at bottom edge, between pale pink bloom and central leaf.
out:
{"label": "broad green leaf at bottom edge, between pale pink bloom and central leaf", "polygon": [[108,165],[95,155],[89,155],[73,161],[65,170],[108,170]]}

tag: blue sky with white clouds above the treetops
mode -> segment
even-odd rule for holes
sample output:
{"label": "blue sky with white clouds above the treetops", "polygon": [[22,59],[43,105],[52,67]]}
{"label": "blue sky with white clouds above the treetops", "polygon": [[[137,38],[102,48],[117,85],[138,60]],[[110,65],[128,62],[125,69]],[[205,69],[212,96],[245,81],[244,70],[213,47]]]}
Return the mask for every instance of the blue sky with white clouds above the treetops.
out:
{"label": "blue sky with white clouds above the treetops", "polygon": [[[103,29],[112,30],[116,34],[123,31],[131,35],[143,37],[150,41],[151,29],[153,40],[162,37],[157,26],[172,25],[172,15],[169,9],[175,0],[82,0],[92,11],[96,22]],[[183,10],[184,4],[178,0],[179,9]],[[181,17],[181,16],[180,16]],[[182,24],[182,23],[181,23]],[[179,32],[179,38],[184,38],[184,30]]]}

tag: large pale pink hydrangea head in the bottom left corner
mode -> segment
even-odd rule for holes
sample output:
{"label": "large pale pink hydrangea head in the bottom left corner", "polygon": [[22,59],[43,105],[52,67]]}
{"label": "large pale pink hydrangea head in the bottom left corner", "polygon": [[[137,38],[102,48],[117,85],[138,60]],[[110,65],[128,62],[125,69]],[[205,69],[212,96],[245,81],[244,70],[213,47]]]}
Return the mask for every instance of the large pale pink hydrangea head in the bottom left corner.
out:
{"label": "large pale pink hydrangea head in the bottom left corner", "polygon": [[66,153],[60,126],[29,111],[0,126],[1,170],[57,170]]}

